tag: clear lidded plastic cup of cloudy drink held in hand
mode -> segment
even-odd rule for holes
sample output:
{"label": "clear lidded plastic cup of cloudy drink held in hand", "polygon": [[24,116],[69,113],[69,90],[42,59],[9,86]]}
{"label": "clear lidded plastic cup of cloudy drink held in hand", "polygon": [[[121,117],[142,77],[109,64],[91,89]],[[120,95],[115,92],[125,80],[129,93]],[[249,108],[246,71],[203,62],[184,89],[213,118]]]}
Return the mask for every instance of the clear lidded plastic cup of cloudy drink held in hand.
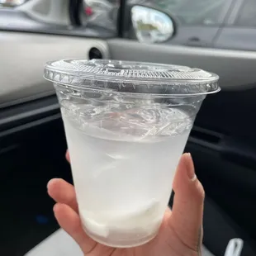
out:
{"label": "clear lidded plastic cup of cloudy drink held in hand", "polygon": [[218,76],[183,66],[64,59],[55,85],[83,229],[101,244],[134,247],[159,231],[201,102]]}

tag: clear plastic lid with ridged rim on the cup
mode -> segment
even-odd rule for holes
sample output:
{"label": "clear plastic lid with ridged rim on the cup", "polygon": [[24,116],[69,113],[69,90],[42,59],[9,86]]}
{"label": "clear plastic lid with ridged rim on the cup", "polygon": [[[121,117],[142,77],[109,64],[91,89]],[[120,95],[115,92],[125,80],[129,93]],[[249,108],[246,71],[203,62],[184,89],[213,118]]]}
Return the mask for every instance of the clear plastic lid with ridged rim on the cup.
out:
{"label": "clear plastic lid with ridged rim on the cup", "polygon": [[45,65],[45,78],[71,88],[192,96],[220,91],[215,73],[169,64],[63,59]]}

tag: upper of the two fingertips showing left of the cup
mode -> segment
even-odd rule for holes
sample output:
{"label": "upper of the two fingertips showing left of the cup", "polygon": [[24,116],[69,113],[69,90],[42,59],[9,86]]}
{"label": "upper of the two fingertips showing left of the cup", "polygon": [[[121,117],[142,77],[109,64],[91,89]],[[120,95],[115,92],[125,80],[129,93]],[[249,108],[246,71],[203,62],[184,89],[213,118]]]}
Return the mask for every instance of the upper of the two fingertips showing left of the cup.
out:
{"label": "upper of the two fingertips showing left of the cup", "polygon": [[78,212],[78,203],[74,188],[62,178],[53,178],[47,185],[48,193],[56,202],[68,205]]}

